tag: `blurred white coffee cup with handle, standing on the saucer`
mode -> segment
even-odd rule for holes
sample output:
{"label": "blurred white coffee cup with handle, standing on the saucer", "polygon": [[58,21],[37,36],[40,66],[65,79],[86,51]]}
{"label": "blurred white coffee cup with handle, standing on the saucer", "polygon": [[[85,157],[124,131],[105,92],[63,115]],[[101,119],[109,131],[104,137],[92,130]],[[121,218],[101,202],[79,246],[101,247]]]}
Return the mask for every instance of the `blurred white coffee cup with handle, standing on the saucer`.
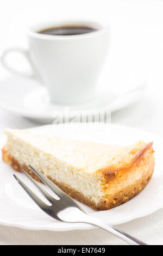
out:
{"label": "blurred white coffee cup with handle, standing on the saucer", "polygon": [[[58,26],[96,28],[85,34],[47,35],[39,33]],[[29,49],[10,48],[1,62],[14,74],[35,78],[47,87],[51,102],[76,104],[93,97],[97,78],[108,48],[108,26],[90,21],[62,21],[33,26],[28,32]],[[33,74],[16,71],[7,63],[10,52],[21,52],[32,66]]]}

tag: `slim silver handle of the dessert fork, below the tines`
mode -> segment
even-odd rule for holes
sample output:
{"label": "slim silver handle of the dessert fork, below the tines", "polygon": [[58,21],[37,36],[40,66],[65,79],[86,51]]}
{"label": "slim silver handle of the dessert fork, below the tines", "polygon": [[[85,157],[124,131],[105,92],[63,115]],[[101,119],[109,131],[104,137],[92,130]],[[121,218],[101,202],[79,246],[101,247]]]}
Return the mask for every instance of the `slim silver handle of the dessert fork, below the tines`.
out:
{"label": "slim silver handle of the dessert fork, below the tines", "polygon": [[127,242],[129,245],[147,245],[146,243],[143,243],[142,241],[136,239],[135,237],[128,235],[127,233],[121,231],[120,229],[115,228],[112,225],[110,225],[102,220],[99,220],[98,218],[89,216],[88,220],[89,220],[89,222],[87,222],[87,223],[96,225],[102,229],[109,231],[113,235],[115,235],[115,236],[119,237],[120,239],[122,239],[123,241]]}

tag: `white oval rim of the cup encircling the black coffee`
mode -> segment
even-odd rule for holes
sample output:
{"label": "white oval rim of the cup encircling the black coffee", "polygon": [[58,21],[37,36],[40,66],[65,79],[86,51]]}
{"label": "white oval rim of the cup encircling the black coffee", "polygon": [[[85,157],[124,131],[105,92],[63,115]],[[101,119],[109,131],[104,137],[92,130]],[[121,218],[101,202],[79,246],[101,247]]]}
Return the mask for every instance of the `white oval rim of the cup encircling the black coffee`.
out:
{"label": "white oval rim of the cup encircling the black coffee", "polygon": [[[90,25],[94,27],[98,27],[97,31],[92,31],[91,33],[85,34],[77,34],[77,35],[47,35],[41,34],[39,31],[46,29],[47,27],[55,27],[55,26],[64,26],[64,25]],[[81,38],[89,38],[98,34],[104,33],[108,29],[108,26],[104,22],[98,21],[89,21],[89,20],[60,20],[60,21],[50,21],[50,22],[39,22],[35,25],[31,26],[27,32],[28,36],[38,38],[38,39],[48,39],[48,40],[74,40]]]}

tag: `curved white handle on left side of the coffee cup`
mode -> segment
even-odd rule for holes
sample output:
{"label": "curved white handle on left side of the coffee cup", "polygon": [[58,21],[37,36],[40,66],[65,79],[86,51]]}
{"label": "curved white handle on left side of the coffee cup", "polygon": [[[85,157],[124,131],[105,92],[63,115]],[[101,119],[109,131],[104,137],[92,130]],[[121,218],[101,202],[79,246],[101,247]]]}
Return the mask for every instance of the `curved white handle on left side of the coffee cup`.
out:
{"label": "curved white handle on left side of the coffee cup", "polygon": [[[32,71],[33,71],[33,73],[31,75],[27,74],[26,72],[17,71],[16,69],[14,69],[12,66],[10,66],[7,63],[6,57],[11,52],[21,53],[27,59],[27,61],[30,64],[30,66],[32,68]],[[36,70],[35,70],[34,65],[32,63],[32,60],[30,59],[29,52],[27,50],[24,50],[23,48],[10,48],[8,50],[5,50],[2,54],[2,56],[1,56],[1,63],[4,66],[5,69],[9,70],[14,75],[20,75],[20,76],[23,76],[23,77],[34,78],[34,79],[39,80],[39,81],[41,80],[40,76],[38,74],[36,75]]]}

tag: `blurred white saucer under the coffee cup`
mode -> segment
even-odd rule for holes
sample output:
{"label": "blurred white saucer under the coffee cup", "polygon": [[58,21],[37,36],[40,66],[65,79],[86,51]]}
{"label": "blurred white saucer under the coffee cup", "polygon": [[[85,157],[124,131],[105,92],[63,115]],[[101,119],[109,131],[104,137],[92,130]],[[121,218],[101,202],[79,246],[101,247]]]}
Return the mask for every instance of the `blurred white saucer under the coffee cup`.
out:
{"label": "blurred white saucer under the coffee cup", "polygon": [[[105,73],[106,74],[106,73]],[[117,111],[139,100],[145,90],[145,82],[131,72],[114,76],[109,74],[99,80],[96,95],[92,100],[79,105],[65,106],[50,103],[47,89],[34,80],[12,76],[0,83],[0,107],[41,123],[52,123],[62,117],[65,107],[77,115],[96,110]]]}

